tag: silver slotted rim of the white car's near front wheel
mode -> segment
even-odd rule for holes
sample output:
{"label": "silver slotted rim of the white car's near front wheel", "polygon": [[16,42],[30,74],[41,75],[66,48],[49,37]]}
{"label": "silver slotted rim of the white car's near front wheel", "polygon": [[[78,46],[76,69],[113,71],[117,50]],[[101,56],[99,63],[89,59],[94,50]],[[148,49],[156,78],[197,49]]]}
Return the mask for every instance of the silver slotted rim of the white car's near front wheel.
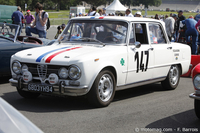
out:
{"label": "silver slotted rim of the white car's near front wheel", "polygon": [[99,98],[103,102],[110,100],[113,94],[113,80],[110,75],[104,74],[98,84]]}

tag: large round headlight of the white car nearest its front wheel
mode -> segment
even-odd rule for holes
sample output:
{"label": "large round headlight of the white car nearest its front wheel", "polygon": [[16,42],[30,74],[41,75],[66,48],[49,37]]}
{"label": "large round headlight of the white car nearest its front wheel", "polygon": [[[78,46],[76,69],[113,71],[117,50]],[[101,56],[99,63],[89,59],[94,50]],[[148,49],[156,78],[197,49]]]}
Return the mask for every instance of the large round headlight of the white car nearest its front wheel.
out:
{"label": "large round headlight of the white car nearest its front wheel", "polygon": [[69,77],[71,79],[77,80],[81,77],[81,70],[77,66],[71,66],[69,68]]}

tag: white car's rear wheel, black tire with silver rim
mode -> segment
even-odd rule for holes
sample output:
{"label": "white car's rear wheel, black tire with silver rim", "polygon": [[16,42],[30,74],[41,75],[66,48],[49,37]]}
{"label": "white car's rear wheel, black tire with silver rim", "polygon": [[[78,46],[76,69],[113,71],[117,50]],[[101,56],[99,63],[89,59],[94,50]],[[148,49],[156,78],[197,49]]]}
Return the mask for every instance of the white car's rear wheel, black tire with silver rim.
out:
{"label": "white car's rear wheel, black tire with silver rim", "polygon": [[161,82],[165,90],[174,90],[179,84],[181,71],[178,65],[171,66],[167,78]]}

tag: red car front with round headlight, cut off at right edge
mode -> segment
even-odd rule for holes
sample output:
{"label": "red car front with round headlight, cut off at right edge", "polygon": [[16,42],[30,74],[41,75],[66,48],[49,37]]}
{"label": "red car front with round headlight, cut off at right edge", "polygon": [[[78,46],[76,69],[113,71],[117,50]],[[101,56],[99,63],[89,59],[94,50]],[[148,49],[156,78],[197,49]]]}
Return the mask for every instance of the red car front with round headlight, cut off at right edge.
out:
{"label": "red car front with round headlight, cut off at right edge", "polygon": [[192,81],[194,93],[191,93],[189,97],[194,99],[194,110],[196,116],[200,119],[200,63],[192,70]]}

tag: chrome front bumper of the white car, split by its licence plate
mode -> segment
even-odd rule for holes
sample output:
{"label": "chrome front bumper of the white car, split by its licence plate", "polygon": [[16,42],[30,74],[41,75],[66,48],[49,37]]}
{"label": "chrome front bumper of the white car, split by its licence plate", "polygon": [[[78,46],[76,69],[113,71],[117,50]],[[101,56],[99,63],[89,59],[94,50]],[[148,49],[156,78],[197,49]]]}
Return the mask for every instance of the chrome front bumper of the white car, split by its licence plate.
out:
{"label": "chrome front bumper of the white car, split by its licence plate", "polygon": [[[28,91],[28,83],[26,82],[15,80],[13,78],[11,78],[9,82],[12,86]],[[80,96],[85,95],[88,92],[88,86],[66,86],[62,83],[60,85],[53,85],[53,88],[54,91],[51,93],[52,95]]]}

